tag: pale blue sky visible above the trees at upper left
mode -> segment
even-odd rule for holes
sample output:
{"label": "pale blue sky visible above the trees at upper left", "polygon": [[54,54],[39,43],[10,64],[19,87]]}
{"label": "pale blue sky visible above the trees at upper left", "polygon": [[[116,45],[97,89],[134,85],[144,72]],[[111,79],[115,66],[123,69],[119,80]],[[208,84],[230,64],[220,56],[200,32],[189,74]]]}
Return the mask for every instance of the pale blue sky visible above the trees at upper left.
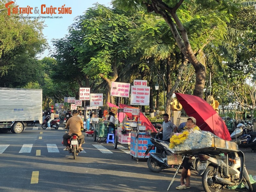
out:
{"label": "pale blue sky visible above the trees at upper left", "polygon": [[[25,7],[31,7],[33,8],[32,14],[29,14],[29,16],[59,16],[62,18],[54,19],[54,18],[44,18],[40,20],[44,21],[44,24],[46,27],[43,30],[44,37],[47,39],[48,44],[51,46],[51,49],[54,47],[52,46],[51,40],[54,39],[60,39],[62,37],[65,37],[65,35],[68,34],[68,27],[74,23],[74,19],[78,15],[83,15],[83,12],[86,11],[90,7],[94,7],[93,4],[99,3],[103,4],[107,7],[112,7],[110,5],[111,0],[13,0],[17,5],[19,5],[19,8],[25,8]],[[46,8],[56,7],[56,14],[41,14],[41,5],[45,4],[45,8],[43,8],[43,11],[46,11]],[[72,13],[71,14],[58,14],[58,8],[62,7],[71,8]],[[35,14],[35,7],[38,7],[37,9],[40,10],[39,14]],[[46,50],[43,54],[38,55],[40,59],[43,59],[44,57],[49,57],[48,55],[50,53],[49,50]]]}

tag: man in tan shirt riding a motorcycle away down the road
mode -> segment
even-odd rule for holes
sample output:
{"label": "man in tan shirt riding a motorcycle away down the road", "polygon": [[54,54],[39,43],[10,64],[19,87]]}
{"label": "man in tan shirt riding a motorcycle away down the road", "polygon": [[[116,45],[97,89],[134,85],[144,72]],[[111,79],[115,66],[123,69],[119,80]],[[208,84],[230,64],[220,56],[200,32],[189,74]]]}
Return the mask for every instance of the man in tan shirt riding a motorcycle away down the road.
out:
{"label": "man in tan shirt riding a motorcycle away down the road", "polygon": [[67,121],[65,129],[68,129],[69,132],[63,135],[63,143],[66,146],[64,150],[69,150],[68,139],[71,137],[72,133],[76,133],[79,136],[79,148],[82,149],[82,144],[84,143],[84,135],[81,132],[81,127],[84,129],[84,122],[82,118],[78,115],[77,110],[73,110],[72,117],[70,117]]}

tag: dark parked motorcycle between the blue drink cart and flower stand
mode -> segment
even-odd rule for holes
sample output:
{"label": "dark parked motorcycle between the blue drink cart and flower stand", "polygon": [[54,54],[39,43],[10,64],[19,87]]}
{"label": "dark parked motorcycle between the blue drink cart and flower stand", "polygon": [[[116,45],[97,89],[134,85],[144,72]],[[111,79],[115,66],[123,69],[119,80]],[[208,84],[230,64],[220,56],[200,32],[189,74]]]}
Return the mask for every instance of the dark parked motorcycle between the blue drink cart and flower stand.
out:
{"label": "dark parked motorcycle between the blue drink cart and flower stand", "polygon": [[[169,148],[169,143],[167,141],[159,140],[156,138],[151,138],[150,140],[153,145],[148,145],[148,149],[146,150],[144,157],[146,157],[149,151],[151,149],[154,149],[155,147],[157,149],[157,153],[150,153],[147,161],[148,169],[152,172],[161,172],[164,169],[169,168],[177,169],[179,167],[179,164],[168,164],[168,156],[173,156],[172,151]],[[193,169],[196,168],[196,164],[198,164],[197,159],[193,161]]]}

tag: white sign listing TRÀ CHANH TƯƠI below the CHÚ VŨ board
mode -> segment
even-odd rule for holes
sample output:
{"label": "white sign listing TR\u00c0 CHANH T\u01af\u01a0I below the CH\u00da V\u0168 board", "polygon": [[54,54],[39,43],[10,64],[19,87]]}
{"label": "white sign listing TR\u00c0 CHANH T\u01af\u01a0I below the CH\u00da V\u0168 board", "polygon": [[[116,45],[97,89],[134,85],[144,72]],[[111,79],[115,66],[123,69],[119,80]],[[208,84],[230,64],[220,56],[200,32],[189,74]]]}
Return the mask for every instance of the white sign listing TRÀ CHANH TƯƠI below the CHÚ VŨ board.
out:
{"label": "white sign listing TR\u00c0 CHANH T\u01af\u01a0I below the CH\u00da V\u0168 board", "polygon": [[149,105],[150,87],[131,86],[131,105]]}

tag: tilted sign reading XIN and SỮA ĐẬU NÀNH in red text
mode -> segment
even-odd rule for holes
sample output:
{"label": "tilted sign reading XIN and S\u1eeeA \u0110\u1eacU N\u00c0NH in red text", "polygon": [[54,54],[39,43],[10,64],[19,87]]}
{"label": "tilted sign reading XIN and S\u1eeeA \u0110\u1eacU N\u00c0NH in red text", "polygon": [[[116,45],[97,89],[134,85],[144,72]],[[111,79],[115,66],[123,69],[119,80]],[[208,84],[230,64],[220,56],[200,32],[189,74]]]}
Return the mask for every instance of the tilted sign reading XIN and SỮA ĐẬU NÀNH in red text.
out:
{"label": "tilted sign reading XIN and S\u1eeeA \u0110\u1eacU N\u00c0NH in red text", "polygon": [[130,95],[130,84],[112,82],[110,96],[116,97],[129,97]]}

